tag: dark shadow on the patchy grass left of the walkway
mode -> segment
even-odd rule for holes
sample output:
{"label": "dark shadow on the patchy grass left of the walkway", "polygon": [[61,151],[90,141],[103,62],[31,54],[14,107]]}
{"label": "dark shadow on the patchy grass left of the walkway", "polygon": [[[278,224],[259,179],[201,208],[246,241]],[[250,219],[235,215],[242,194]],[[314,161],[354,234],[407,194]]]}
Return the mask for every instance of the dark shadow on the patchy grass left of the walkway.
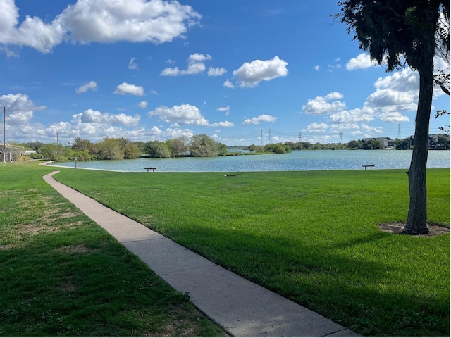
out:
{"label": "dark shadow on the patchy grass left of the walkway", "polygon": [[0,249],[1,336],[224,334],[187,296],[99,232],[94,226],[44,234]]}

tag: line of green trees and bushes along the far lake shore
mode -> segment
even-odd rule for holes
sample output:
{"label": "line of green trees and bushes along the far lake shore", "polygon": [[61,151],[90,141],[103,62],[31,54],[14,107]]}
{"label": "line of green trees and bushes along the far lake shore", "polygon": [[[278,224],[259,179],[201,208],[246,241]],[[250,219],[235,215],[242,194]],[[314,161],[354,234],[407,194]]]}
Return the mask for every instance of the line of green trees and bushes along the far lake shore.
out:
{"label": "line of green trees and bushes along the far lake shore", "polygon": [[[21,144],[28,149],[33,149],[36,154],[32,158],[48,158],[51,161],[65,162],[92,160],[121,160],[127,158],[171,158],[171,157],[214,157],[242,154],[287,154],[293,150],[341,150],[341,149],[381,149],[383,144],[377,139],[352,140],[347,143],[310,143],[310,142],[285,142],[257,146],[234,146],[236,149],[249,150],[249,153],[228,152],[226,144],[216,142],[206,134],[197,134],[192,137],[180,136],[176,139],[168,139],[165,142],[131,142],[125,138],[106,137],[99,142],[91,142],[89,139],[77,137],[74,144],[63,146],[62,144],[44,144],[32,142]],[[450,149],[450,139],[445,135],[439,135],[432,143],[435,149]],[[409,139],[395,139],[395,149],[412,149]]]}

